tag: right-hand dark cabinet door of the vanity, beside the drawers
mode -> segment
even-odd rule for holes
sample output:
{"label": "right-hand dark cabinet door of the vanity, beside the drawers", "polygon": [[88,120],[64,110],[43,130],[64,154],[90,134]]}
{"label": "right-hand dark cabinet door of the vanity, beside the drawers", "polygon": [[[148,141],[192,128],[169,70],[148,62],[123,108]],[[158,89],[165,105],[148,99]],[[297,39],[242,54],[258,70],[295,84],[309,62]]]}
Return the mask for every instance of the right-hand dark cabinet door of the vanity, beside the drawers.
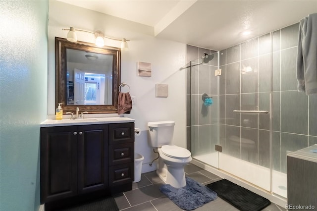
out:
{"label": "right-hand dark cabinet door of the vanity, beside the drawers", "polygon": [[108,125],[78,127],[78,193],[108,187]]}

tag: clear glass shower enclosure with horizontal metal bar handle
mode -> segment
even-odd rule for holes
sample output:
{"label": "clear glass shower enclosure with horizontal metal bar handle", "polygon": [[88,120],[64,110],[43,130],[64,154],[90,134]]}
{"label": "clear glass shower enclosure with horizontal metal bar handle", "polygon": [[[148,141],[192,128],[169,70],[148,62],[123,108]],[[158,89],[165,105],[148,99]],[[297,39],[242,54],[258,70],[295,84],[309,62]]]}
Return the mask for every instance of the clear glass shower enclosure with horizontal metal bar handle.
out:
{"label": "clear glass shower enclosure with horizontal metal bar handle", "polygon": [[[234,48],[241,51],[240,45]],[[270,62],[265,62],[270,60],[270,55],[244,59],[239,56],[237,60],[226,58],[222,61],[224,55],[223,52],[204,55],[191,61],[187,68],[190,72],[187,74],[190,75],[187,97],[191,102],[192,157],[272,192],[271,71]],[[208,57],[205,56],[213,57],[214,61],[207,61]],[[223,65],[219,65],[219,59],[224,62]],[[259,66],[259,60],[265,68]],[[217,74],[218,69],[221,69],[221,75]],[[262,79],[265,87],[259,83],[259,74],[268,74],[267,78]],[[206,93],[213,100],[211,106],[204,103]],[[281,174],[279,186],[286,187],[286,174]],[[281,189],[278,194],[286,197],[286,189]]]}

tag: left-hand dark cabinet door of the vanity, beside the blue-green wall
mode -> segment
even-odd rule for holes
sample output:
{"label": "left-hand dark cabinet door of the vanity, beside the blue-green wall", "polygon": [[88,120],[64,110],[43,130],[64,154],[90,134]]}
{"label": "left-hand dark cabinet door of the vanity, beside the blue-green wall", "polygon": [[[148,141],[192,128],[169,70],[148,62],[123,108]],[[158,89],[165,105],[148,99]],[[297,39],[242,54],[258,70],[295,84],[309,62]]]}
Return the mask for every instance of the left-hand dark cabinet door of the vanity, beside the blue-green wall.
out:
{"label": "left-hand dark cabinet door of the vanity, beside the blue-green wall", "polygon": [[41,204],[77,194],[77,126],[41,128]]}

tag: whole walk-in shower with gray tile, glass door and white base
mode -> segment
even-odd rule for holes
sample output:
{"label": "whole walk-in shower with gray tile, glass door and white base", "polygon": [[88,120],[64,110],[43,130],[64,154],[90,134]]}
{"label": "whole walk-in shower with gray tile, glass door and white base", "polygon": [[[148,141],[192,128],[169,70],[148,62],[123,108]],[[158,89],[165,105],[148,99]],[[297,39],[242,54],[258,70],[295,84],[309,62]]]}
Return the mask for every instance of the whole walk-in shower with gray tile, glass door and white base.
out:
{"label": "whole walk-in shower with gray tile, glass door and white base", "polygon": [[297,91],[297,37],[294,24],[208,53],[210,61],[191,47],[201,55],[186,69],[194,162],[284,201],[286,152],[317,144],[317,96]]}

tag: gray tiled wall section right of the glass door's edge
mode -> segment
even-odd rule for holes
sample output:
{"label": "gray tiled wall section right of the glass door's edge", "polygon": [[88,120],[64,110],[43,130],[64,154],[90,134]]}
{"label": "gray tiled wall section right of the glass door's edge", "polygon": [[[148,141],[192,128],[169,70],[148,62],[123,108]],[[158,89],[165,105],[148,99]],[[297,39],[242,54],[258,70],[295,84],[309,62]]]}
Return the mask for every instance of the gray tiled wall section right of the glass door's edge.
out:
{"label": "gray tiled wall section right of the glass door's edge", "polygon": [[286,151],[317,144],[317,95],[297,91],[299,24],[272,33],[273,168],[286,173]]}

